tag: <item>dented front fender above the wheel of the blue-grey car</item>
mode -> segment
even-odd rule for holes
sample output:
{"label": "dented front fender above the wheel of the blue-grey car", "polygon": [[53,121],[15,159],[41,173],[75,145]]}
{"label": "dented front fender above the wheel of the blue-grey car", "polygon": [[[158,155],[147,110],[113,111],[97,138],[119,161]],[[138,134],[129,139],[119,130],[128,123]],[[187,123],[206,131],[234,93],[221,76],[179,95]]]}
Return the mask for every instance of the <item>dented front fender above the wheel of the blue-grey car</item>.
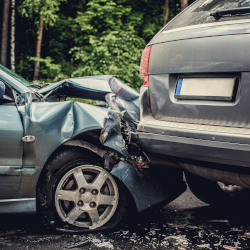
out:
{"label": "dented front fender above the wheel of the blue-grey car", "polygon": [[[18,110],[22,117],[24,134],[36,138],[32,143],[24,143],[24,153],[32,156],[24,157],[28,165],[32,165],[33,159],[33,164],[42,167],[50,154],[62,143],[84,131],[104,129],[109,117],[108,109],[89,104],[74,101],[32,103],[31,93],[23,94],[23,98],[25,105],[19,106]],[[115,133],[113,140],[116,140],[116,135],[119,138],[121,136]]]}

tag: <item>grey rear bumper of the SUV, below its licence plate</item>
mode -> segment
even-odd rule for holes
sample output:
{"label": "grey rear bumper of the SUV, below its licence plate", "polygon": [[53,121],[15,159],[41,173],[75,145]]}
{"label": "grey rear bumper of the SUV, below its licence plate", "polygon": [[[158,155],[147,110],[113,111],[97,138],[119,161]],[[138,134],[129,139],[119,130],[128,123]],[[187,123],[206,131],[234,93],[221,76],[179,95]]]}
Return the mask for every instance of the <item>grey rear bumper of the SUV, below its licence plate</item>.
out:
{"label": "grey rear bumper of the SUV, below its licence plate", "polygon": [[141,89],[141,120],[133,134],[148,152],[199,161],[250,167],[250,130],[155,120],[148,88]]}

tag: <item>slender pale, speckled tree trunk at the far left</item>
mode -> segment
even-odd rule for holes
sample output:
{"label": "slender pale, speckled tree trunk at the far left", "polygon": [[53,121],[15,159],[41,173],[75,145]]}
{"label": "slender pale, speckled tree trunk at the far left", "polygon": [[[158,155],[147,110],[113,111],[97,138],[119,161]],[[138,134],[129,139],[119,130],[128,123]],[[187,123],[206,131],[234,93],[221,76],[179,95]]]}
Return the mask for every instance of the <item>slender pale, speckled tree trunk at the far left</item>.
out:
{"label": "slender pale, speckled tree trunk at the far left", "polygon": [[10,68],[15,72],[15,0],[11,0]]}

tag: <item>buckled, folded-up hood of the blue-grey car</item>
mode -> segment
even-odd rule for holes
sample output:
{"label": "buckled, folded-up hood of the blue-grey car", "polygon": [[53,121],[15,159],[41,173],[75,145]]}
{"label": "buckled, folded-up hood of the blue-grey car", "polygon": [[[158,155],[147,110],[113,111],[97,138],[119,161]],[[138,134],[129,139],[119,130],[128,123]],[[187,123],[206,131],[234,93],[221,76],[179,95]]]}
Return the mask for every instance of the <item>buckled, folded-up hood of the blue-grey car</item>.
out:
{"label": "buckled, folded-up hood of the blue-grey car", "polygon": [[54,95],[106,101],[113,110],[120,113],[126,112],[132,122],[139,123],[139,93],[114,76],[86,76],[65,79],[49,84],[37,92],[46,95],[52,90],[54,90]]}

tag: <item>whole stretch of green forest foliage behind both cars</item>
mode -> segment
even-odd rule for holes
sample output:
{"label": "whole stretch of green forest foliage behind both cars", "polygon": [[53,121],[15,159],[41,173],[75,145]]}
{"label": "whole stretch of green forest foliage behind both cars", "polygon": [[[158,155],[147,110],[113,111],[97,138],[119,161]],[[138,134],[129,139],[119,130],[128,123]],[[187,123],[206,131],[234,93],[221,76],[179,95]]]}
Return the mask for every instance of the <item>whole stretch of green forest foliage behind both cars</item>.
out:
{"label": "whole stretch of green forest foliage behind both cars", "polygon": [[[166,0],[16,0],[16,71],[30,80],[39,60],[39,82],[111,74],[138,89],[141,54],[162,28],[165,5]],[[169,0],[169,20],[179,11],[180,0]],[[47,29],[37,59],[40,15]]]}

